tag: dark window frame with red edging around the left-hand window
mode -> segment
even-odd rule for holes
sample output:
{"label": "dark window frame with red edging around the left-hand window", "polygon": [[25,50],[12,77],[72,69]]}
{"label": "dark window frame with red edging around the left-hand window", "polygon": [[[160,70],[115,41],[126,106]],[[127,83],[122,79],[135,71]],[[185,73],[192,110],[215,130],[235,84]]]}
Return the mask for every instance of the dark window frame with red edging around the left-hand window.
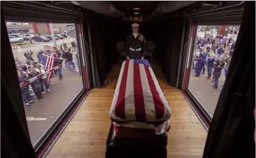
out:
{"label": "dark window frame with red edging around the left-hand window", "polygon": [[[77,46],[79,48],[79,60],[80,60],[80,70],[81,77],[83,83],[83,89],[77,93],[77,96],[67,105],[66,109],[62,111],[62,113],[54,120],[54,122],[50,125],[48,130],[41,136],[41,138],[33,144],[35,152],[38,156],[42,155],[46,150],[46,147],[51,143],[52,138],[56,136],[56,133],[59,132],[60,128],[63,128],[64,124],[67,122],[67,118],[70,117],[72,112],[79,106],[82,99],[85,98],[85,95],[88,93],[90,89],[86,89],[85,81],[88,81],[88,78],[85,78],[83,67],[81,67],[82,63],[85,59],[82,57],[87,54],[80,48],[82,45],[80,44],[79,36],[78,36],[78,23],[77,19],[83,18],[82,13],[70,12],[70,14],[63,13],[61,10],[47,10],[49,8],[45,7],[43,9],[38,9],[38,6],[29,4],[31,2],[17,2],[17,1],[4,1],[1,2],[1,7],[4,13],[4,17],[6,22],[15,21],[15,22],[40,22],[40,23],[74,23],[75,24],[75,33],[77,39]],[[19,4],[19,5],[17,5]],[[29,4],[29,6],[27,5]],[[44,14],[41,14],[44,12]],[[32,14],[33,13],[33,14]],[[36,37],[36,36],[35,36]],[[83,54],[83,56],[82,56]],[[84,69],[87,69],[86,67]],[[17,73],[17,72],[11,72]],[[21,93],[20,93],[21,95]],[[25,115],[25,114],[24,114]],[[27,122],[26,118],[21,118],[23,121]],[[28,128],[28,127],[26,127]],[[29,136],[29,133],[28,133]]]}

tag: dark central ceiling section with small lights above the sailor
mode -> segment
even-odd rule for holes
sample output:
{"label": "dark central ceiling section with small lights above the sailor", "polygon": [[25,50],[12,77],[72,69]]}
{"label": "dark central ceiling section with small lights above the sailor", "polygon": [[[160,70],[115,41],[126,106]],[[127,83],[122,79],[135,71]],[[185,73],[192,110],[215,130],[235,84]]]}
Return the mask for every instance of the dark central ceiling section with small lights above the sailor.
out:
{"label": "dark central ceiling section with small lights above the sailor", "polygon": [[[143,18],[150,15],[157,7],[159,2],[163,1],[111,1],[117,9],[124,12],[127,17],[140,16]],[[140,10],[134,10],[134,8],[140,8]],[[139,14],[134,14],[134,12],[139,12]]]}

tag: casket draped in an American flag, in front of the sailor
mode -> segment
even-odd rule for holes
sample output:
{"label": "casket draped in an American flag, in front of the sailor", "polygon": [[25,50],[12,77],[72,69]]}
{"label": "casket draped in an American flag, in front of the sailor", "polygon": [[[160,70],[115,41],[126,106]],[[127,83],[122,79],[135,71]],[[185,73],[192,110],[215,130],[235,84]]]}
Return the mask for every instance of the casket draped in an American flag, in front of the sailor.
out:
{"label": "casket draped in an American flag, in front of the sailor", "polygon": [[171,109],[148,60],[122,63],[109,112],[116,133],[161,135],[169,131]]}

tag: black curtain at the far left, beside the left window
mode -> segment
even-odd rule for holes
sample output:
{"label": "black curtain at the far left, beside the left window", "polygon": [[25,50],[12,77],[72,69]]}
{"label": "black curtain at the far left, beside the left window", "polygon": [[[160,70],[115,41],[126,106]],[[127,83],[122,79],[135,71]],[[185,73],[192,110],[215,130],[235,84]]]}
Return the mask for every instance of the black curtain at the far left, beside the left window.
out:
{"label": "black curtain at the far left, beside the left window", "polygon": [[1,8],[1,156],[36,157]]}

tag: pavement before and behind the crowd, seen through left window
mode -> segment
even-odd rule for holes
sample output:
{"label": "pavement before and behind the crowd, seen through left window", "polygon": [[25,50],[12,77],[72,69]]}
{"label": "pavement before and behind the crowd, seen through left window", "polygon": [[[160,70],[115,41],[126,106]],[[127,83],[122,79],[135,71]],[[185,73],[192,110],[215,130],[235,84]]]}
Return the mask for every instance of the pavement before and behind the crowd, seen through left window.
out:
{"label": "pavement before and behind the crowd, seen through left window", "polygon": [[[56,41],[56,44],[59,45],[62,41],[70,43],[72,38],[60,39]],[[53,46],[53,42],[37,43],[32,46],[22,46],[23,52],[27,49],[32,49],[35,60],[38,60],[36,56],[39,49],[45,45]],[[12,53],[14,57],[19,57],[21,62],[26,62],[23,53],[19,53],[18,49],[13,49]],[[61,115],[63,110],[69,106],[70,102],[83,89],[83,81],[80,73],[75,72],[75,70],[67,70],[64,62],[62,65],[62,74],[65,79],[59,80],[58,76],[52,78],[51,85],[49,86],[51,92],[47,93],[45,90],[46,94],[43,99],[38,100],[35,97],[33,99],[35,103],[32,106],[24,106],[32,144],[35,144],[40,139],[56,118]]]}

